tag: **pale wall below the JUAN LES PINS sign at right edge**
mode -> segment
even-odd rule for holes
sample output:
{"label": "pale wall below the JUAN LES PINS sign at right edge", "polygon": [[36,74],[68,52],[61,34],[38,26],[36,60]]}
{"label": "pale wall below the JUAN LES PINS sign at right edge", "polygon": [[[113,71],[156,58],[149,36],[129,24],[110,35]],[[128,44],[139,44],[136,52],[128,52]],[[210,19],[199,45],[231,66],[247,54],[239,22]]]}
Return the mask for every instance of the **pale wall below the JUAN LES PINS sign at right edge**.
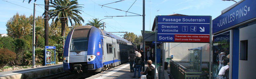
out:
{"label": "pale wall below the JUAN LES PINS sign at right edge", "polygon": [[[238,79],[255,79],[256,24],[239,29],[239,40],[248,40],[248,59],[239,60]],[[240,48],[240,46],[239,46]],[[240,49],[239,49],[240,51]],[[240,52],[239,52],[240,55]],[[240,59],[240,56],[239,56]]]}

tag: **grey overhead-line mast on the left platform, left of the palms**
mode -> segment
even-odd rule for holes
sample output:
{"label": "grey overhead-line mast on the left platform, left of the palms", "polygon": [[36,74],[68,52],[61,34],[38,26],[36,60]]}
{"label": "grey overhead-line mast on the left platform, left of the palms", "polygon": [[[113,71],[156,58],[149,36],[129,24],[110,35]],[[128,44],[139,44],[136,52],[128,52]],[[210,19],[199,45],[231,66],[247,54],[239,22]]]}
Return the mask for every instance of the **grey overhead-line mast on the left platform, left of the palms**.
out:
{"label": "grey overhead-line mast on the left platform, left of the palms", "polygon": [[36,11],[36,3],[34,3],[34,14],[33,14],[33,57],[32,57],[32,62],[33,62],[33,67],[35,66],[35,11]]}

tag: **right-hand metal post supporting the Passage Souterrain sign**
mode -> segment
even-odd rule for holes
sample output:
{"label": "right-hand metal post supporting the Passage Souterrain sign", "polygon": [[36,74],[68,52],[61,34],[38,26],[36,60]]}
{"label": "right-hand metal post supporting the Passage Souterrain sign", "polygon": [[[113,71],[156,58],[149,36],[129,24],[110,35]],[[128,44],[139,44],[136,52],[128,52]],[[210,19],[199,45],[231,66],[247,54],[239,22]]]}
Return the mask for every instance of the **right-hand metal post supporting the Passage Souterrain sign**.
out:
{"label": "right-hand metal post supporting the Passage Souterrain sign", "polygon": [[210,16],[210,61],[209,61],[209,79],[211,79],[212,72],[212,16]]}

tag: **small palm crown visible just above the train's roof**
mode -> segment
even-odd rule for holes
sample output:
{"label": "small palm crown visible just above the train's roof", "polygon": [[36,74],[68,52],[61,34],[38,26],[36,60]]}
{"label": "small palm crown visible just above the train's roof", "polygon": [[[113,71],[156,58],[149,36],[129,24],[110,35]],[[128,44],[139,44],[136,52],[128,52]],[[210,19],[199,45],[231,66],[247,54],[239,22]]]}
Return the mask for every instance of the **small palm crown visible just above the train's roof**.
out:
{"label": "small palm crown visible just above the train's roof", "polygon": [[87,23],[86,25],[91,25],[94,26],[96,28],[101,28],[103,27],[103,23],[100,21],[98,21],[98,18],[92,19],[92,21],[88,21],[89,23]]}

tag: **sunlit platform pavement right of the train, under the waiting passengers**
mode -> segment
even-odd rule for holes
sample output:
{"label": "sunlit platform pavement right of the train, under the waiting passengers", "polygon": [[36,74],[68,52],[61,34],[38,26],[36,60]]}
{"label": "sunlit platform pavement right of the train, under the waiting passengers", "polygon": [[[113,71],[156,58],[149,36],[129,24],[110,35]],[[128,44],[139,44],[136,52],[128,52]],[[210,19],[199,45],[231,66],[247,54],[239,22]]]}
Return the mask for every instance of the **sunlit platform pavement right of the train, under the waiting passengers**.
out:
{"label": "sunlit platform pavement right of the train, under the waiting passengers", "polygon": [[[145,70],[146,70],[147,67],[148,66],[146,64],[145,65]],[[163,68],[163,67],[161,67],[161,68]],[[158,71],[159,71],[159,69],[158,69]],[[161,78],[160,79],[165,79],[165,78],[169,79],[168,75],[167,75],[167,77],[164,77],[166,75],[163,74],[162,70],[160,70],[160,71],[161,71],[161,76],[160,76]],[[107,71],[104,71],[102,73],[91,76],[89,78],[86,78],[86,79],[139,79],[138,78],[138,71],[136,73],[136,78],[133,78],[132,77],[133,75],[134,75],[134,72],[130,72],[130,64],[128,62],[128,63],[125,63],[123,65],[114,67],[114,68],[109,69]]]}

